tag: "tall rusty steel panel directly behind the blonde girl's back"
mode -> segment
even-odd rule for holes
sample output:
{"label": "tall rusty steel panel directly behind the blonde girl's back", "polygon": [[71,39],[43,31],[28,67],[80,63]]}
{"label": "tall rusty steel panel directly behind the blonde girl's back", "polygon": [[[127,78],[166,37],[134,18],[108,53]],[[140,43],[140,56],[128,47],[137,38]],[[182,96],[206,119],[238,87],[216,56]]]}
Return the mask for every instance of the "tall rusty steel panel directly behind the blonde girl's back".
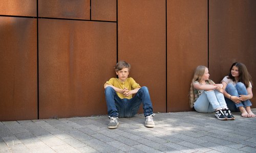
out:
{"label": "tall rusty steel panel directly behind the blonde girl's back", "polygon": [[207,56],[207,1],[167,1],[167,112],[190,110],[193,72]]}

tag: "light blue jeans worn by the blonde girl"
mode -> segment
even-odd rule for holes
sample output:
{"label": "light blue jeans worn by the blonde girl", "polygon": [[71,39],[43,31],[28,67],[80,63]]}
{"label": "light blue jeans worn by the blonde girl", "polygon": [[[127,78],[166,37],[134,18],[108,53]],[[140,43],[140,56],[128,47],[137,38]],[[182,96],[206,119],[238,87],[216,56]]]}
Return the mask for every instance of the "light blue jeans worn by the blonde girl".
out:
{"label": "light blue jeans worn by the blonde girl", "polygon": [[212,113],[217,108],[227,108],[224,95],[218,90],[203,91],[194,104],[199,113]]}

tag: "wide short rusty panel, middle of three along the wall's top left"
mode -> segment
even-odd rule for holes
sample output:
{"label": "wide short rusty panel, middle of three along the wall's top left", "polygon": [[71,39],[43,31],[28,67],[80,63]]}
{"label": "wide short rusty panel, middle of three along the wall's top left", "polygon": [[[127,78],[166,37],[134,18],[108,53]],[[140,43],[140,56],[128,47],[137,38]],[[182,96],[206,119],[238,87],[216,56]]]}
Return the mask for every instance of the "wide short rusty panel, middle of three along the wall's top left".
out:
{"label": "wide short rusty panel, middle of three along the wall's top left", "polygon": [[38,16],[90,20],[90,0],[39,0]]}

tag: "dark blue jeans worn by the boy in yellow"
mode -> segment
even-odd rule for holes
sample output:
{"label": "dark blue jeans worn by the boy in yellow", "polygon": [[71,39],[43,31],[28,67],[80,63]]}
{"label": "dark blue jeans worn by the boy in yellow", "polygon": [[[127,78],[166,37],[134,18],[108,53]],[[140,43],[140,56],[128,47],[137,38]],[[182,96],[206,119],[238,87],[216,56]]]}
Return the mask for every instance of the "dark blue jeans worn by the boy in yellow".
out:
{"label": "dark blue jeans worn by the boy in yellow", "polygon": [[131,99],[121,99],[112,87],[105,88],[106,106],[111,117],[133,117],[137,114],[141,103],[143,104],[144,116],[153,114],[150,93],[147,87],[141,87]]}

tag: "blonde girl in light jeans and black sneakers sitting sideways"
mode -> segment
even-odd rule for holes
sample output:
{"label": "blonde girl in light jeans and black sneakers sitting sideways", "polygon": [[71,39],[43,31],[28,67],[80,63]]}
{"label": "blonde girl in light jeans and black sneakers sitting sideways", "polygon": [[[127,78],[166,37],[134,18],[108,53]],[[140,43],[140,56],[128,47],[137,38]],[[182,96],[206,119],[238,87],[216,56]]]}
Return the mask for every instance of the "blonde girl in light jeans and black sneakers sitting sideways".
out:
{"label": "blonde girl in light jeans and black sneakers sitting sideways", "polygon": [[215,84],[209,80],[209,71],[205,66],[198,66],[190,84],[190,107],[199,113],[215,112],[215,117],[220,120],[234,120],[228,109],[224,95],[223,85]]}

